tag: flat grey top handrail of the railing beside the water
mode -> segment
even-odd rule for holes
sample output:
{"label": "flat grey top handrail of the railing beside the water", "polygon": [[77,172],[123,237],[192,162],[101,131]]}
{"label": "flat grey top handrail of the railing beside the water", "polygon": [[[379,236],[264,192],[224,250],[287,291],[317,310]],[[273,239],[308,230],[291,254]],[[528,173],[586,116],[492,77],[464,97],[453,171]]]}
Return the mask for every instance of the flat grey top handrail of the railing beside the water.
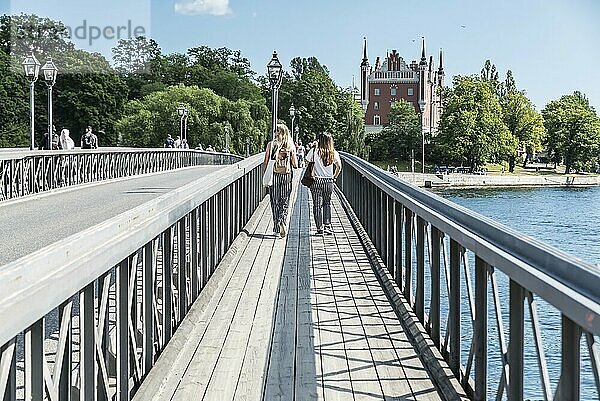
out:
{"label": "flat grey top handrail of the railing beside the water", "polygon": [[[597,266],[392,177],[354,155],[342,154],[347,163],[359,168],[386,194],[411,205],[418,215],[451,237],[464,240],[469,249],[486,256],[492,265],[523,287],[542,296],[581,327],[600,335],[600,269]],[[549,279],[553,279],[553,285],[545,282]],[[555,285],[562,291],[557,292]]]}

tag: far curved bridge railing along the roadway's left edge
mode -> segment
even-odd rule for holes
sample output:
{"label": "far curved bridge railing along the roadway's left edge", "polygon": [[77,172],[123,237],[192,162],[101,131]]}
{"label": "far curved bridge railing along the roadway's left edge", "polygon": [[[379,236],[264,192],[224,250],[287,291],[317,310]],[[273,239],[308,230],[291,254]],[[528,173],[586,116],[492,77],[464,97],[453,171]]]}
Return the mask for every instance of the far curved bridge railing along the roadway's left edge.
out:
{"label": "far curved bridge railing along the roadway's left edge", "polygon": [[76,149],[0,152],[0,201],[88,182],[242,158],[188,149]]}

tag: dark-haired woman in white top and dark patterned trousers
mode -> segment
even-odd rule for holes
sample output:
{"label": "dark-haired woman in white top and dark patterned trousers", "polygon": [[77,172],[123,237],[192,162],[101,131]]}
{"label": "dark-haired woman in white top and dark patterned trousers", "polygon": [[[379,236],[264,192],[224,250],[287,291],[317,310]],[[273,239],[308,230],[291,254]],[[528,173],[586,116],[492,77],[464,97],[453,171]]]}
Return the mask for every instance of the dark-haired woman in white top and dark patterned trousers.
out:
{"label": "dark-haired woman in white top and dark patterned trousers", "polygon": [[329,133],[319,135],[318,144],[306,155],[307,162],[314,162],[313,178],[315,182],[310,191],[313,198],[313,215],[317,226],[317,235],[331,234],[331,194],[333,182],[342,171],[340,155],[333,147],[333,138]]}

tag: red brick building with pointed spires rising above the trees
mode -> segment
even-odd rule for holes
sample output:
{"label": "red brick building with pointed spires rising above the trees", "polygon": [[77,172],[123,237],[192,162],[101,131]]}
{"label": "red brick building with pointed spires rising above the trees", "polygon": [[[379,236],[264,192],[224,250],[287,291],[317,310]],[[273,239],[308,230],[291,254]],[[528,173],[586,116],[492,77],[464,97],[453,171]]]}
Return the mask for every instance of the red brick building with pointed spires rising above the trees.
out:
{"label": "red brick building with pointed spires rising above the trees", "polygon": [[387,54],[381,63],[379,57],[371,67],[365,38],[363,60],[360,65],[360,102],[365,110],[365,130],[379,132],[388,123],[388,113],[394,102],[404,99],[421,115],[423,132],[435,134],[441,116],[441,99],[438,88],[444,86],[443,54],[434,67],[433,56],[425,55],[425,38],[421,60],[407,64],[397,50]]}

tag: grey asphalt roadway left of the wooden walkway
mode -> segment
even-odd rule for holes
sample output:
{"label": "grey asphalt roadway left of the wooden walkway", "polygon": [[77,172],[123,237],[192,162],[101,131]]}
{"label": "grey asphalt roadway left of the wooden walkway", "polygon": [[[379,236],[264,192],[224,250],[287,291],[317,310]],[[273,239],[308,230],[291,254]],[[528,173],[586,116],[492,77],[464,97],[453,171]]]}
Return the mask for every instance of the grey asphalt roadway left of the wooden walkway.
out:
{"label": "grey asphalt roadway left of the wooden walkway", "polygon": [[0,202],[0,266],[221,168],[192,167]]}

